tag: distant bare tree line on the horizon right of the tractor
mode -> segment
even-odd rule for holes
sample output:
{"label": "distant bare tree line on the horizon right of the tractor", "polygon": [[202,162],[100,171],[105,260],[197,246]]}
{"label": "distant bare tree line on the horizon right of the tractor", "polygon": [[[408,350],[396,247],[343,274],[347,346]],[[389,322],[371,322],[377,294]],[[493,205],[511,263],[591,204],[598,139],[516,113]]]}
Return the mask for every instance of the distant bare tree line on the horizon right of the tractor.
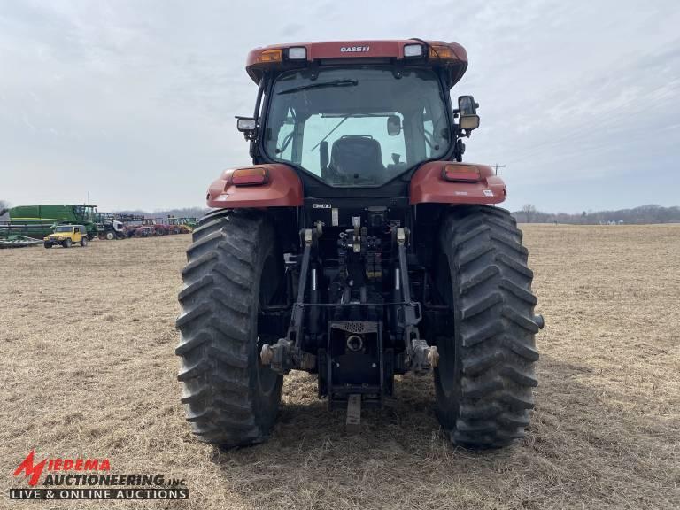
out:
{"label": "distant bare tree line on the horizon right of the tractor", "polygon": [[519,223],[572,223],[576,225],[680,223],[680,207],[641,205],[616,211],[583,211],[581,213],[545,213],[527,204],[513,213]]}

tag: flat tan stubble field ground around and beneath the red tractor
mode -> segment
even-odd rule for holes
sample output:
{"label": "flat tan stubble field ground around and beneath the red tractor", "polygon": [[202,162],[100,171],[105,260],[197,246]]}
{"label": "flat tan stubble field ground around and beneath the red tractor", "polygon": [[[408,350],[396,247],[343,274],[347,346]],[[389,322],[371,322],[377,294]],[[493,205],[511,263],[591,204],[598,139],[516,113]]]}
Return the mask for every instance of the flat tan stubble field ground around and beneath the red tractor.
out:
{"label": "flat tan stubble field ground around and beneath the red tractor", "polygon": [[[537,408],[492,452],[447,444],[430,378],[400,379],[348,436],[302,373],[267,444],[220,452],[189,433],[175,380],[189,236],[0,251],[0,507],[680,507],[680,225],[523,229]],[[189,501],[10,501],[33,448],[184,478]]]}

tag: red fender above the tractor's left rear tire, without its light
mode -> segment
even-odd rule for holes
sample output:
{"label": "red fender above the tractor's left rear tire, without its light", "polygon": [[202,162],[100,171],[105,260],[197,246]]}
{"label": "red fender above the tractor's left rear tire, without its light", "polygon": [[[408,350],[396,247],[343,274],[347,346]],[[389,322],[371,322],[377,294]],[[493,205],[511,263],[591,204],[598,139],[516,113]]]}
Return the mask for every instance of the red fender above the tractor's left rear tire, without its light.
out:
{"label": "red fender above the tractor's left rear tire, without its light", "polygon": [[279,163],[245,166],[264,168],[267,182],[251,186],[235,186],[231,174],[240,168],[225,170],[208,188],[208,207],[239,209],[246,207],[298,207],[303,204],[302,182],[295,170]]}

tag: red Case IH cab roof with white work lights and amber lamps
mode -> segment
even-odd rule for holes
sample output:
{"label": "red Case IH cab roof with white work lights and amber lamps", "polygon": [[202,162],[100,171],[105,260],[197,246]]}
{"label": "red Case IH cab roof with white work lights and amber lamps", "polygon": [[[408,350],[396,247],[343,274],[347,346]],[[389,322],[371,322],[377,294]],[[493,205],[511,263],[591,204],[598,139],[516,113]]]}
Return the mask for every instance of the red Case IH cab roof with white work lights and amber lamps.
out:
{"label": "red Case IH cab roof with white work lights and amber lamps", "polygon": [[[420,54],[417,46],[421,47]],[[267,70],[362,63],[444,67],[449,71],[448,82],[452,87],[468,68],[468,52],[457,42],[421,39],[297,42],[251,50],[245,69],[252,81],[259,84]]]}

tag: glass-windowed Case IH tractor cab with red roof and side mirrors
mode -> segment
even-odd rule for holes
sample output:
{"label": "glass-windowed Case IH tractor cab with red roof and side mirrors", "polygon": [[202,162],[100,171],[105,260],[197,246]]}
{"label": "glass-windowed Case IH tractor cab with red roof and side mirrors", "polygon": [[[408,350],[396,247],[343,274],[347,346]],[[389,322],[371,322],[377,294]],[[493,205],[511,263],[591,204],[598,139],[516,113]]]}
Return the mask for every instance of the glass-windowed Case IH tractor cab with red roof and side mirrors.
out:
{"label": "glass-windowed Case IH tractor cab with red roof and side mirrors", "polygon": [[[460,137],[478,118],[476,125],[456,122],[460,108],[452,107],[449,89],[467,66],[465,50],[444,42],[253,50],[247,70],[259,97],[254,116],[239,118],[238,128],[254,159],[294,167],[317,194],[382,187],[426,161],[460,161]],[[464,115],[476,117],[466,98],[472,109]]]}

